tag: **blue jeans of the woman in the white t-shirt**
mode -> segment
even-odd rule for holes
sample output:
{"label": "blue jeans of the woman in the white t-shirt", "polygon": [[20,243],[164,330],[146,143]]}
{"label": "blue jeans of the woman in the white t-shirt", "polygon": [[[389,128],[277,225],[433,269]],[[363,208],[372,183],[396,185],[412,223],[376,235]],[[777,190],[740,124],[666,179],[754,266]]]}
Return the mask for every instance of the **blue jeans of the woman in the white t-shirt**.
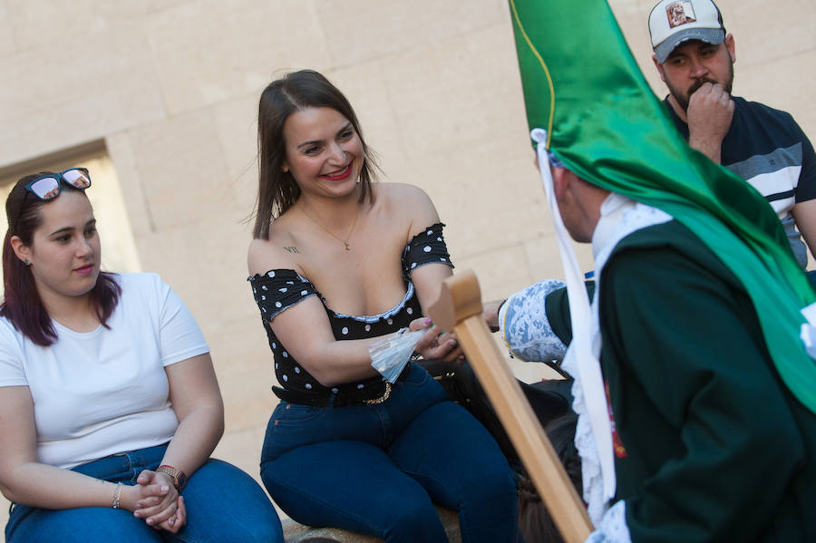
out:
{"label": "blue jeans of the woman in the white t-shirt", "polygon": [[[155,470],[166,445],[102,458],[73,468],[97,479],[136,484]],[[280,520],[267,495],[245,472],[210,459],[182,491],[187,524],[178,534],[156,530],[126,509],[39,509],[16,504],[5,526],[6,543],[282,543]]]}

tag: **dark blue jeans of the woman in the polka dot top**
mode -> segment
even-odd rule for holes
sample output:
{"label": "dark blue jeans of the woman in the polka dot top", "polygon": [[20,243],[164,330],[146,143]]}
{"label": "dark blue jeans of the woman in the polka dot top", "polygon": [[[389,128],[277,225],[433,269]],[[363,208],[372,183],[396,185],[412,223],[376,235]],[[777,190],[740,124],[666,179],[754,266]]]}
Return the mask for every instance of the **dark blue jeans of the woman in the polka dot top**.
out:
{"label": "dark blue jeans of the woman in the polka dot top", "polygon": [[383,403],[280,402],[261,479],[278,506],[309,526],[447,543],[436,503],[459,512],[464,543],[517,537],[516,488],[499,446],[415,364]]}

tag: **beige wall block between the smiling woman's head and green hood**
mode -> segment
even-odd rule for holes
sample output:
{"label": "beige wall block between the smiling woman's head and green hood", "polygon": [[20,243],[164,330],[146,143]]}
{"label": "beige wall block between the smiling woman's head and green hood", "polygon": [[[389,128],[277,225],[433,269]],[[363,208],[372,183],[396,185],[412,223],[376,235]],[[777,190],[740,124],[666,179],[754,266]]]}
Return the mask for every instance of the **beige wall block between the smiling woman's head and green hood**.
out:
{"label": "beige wall block between the smiling woman's head and green hood", "polygon": [[473,142],[527,132],[505,24],[396,56],[384,64],[384,79],[409,160],[442,150],[469,154]]}

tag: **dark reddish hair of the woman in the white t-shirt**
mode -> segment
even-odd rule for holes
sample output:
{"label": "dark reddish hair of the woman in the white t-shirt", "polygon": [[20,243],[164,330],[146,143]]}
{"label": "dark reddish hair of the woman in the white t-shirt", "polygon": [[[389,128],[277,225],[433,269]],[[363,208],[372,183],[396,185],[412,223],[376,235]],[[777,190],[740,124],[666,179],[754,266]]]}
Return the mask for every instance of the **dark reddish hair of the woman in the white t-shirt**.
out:
{"label": "dark reddish hair of the woman in the white t-shirt", "polygon": [[[11,238],[16,236],[20,238],[23,245],[31,246],[34,231],[43,224],[43,214],[40,210],[45,202],[28,194],[25,185],[31,180],[52,174],[51,171],[41,171],[25,176],[15,183],[8,198],[5,199],[8,230],[5,232],[3,241],[4,300],[0,305],[0,316],[5,316],[34,344],[44,347],[56,343],[57,333],[51,316],[45,310],[43,301],[37,292],[31,269],[17,258],[11,246]],[[61,190],[63,192],[82,192],[68,183],[62,183]],[[107,328],[107,320],[112,315],[113,309],[116,308],[116,304],[119,303],[121,286],[116,283],[113,274],[100,272],[90,295],[96,315],[102,325]]]}

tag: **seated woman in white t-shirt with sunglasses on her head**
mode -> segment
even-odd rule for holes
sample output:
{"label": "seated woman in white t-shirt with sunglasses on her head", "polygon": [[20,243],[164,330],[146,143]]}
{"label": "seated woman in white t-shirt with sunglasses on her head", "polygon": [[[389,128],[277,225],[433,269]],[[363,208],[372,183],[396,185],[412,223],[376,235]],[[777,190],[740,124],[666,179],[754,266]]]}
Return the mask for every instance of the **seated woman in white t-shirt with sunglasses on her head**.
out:
{"label": "seated woman in white t-shirt with sunglasses on her head", "polygon": [[257,483],[209,458],[223,403],[187,307],[159,276],[100,271],[90,185],[42,172],[5,203],[6,541],[283,541]]}

